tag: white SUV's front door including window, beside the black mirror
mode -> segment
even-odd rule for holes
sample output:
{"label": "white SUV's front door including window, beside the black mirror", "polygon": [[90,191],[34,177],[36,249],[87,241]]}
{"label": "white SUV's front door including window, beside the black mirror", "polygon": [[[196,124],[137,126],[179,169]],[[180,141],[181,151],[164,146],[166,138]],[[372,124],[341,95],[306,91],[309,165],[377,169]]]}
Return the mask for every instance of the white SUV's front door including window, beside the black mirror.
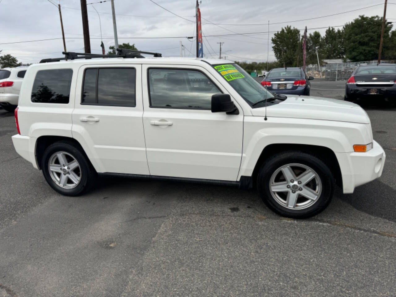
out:
{"label": "white SUV's front door including window, beside the black mirror", "polygon": [[[160,67],[159,67],[160,66]],[[211,112],[226,93],[202,67],[143,65],[143,125],[151,175],[236,181],[243,112]]]}

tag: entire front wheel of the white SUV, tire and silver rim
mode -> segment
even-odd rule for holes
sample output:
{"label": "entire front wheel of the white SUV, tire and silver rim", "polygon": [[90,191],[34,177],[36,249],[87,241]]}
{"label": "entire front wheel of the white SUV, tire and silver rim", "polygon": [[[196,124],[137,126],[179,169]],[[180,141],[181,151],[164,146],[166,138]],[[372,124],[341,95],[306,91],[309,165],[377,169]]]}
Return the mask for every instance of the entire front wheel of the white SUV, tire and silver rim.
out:
{"label": "entire front wheel of the white SUV, tire and silver rim", "polygon": [[272,156],[257,176],[264,203],[284,217],[303,219],[323,211],[333,196],[334,178],[318,157],[300,151]]}

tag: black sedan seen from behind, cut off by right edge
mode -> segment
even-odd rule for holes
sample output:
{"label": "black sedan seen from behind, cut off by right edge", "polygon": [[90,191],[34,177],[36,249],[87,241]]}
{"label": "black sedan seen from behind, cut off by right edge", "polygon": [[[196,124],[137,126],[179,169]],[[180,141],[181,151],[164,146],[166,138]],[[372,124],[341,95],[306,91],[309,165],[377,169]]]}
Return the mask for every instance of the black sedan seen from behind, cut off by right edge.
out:
{"label": "black sedan seen from behind, cut off by right edge", "polygon": [[396,102],[396,64],[362,65],[345,84],[345,101]]}

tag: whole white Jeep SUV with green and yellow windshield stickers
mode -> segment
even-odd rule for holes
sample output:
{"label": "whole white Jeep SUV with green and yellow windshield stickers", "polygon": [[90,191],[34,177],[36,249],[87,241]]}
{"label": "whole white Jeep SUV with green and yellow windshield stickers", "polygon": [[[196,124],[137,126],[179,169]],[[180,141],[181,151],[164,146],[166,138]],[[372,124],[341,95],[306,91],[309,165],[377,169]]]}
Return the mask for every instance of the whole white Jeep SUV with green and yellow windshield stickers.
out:
{"label": "whole white Jeep SUV with green and yellow windshield stickers", "polygon": [[14,147],[61,194],[98,174],[225,183],[304,218],[336,184],[352,193],[381,176],[385,153],[358,105],[272,94],[232,61],[105,57],[48,59],[23,81]]}

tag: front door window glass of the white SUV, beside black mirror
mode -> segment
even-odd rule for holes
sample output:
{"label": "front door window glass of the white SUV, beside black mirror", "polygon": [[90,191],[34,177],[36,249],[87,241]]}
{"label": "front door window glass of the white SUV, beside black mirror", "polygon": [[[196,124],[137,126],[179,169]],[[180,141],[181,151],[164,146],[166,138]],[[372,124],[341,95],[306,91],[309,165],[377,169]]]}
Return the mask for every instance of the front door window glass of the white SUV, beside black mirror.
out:
{"label": "front door window glass of the white SUV, beside black mirror", "polygon": [[149,69],[150,107],[211,109],[213,94],[221,91],[196,70]]}

